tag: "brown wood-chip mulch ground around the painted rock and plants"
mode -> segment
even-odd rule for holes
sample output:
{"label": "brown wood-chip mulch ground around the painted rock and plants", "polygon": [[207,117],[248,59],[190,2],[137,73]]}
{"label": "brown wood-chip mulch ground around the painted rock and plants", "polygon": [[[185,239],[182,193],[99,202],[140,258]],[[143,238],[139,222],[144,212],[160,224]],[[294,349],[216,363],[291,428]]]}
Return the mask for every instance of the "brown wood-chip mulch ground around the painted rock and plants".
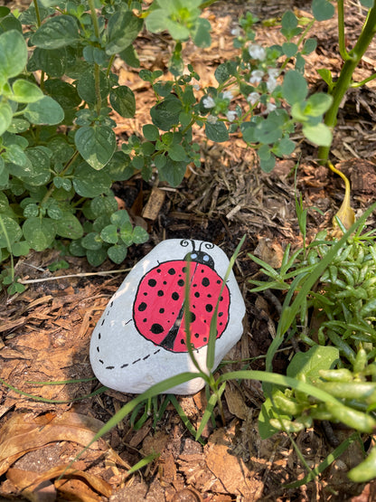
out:
{"label": "brown wood-chip mulch ground around the painted rock and plants", "polygon": [[[24,9],[24,0],[0,5]],[[187,61],[202,75],[202,85],[214,84],[214,70],[236,55],[231,29],[240,14],[257,14],[259,43],[277,43],[278,20],[287,8],[309,16],[309,1],[220,1],[205,13],[212,24],[212,46],[197,49],[187,43]],[[357,2],[346,5],[347,43],[352,46],[362,25]],[[308,60],[307,78],[312,90],[324,90],[316,70],[328,68],[334,76],[341,67],[334,20],[315,28],[317,49]],[[137,40],[141,65],[166,74],[172,43],[164,34],[142,34]],[[153,93],[138,71],[115,62],[120,83],[136,95],[136,118],[116,117],[118,143],[137,134],[150,122]],[[355,79],[371,75],[376,67],[376,44],[366,53]],[[166,74],[166,78],[168,75]],[[332,156],[349,176],[352,204],[357,215],[375,200],[376,191],[376,84],[348,93],[334,133]],[[225,423],[219,414],[195,441],[174,406],[169,403],[156,420],[156,409],[140,428],[120,421],[103,439],[96,441],[66,466],[88,444],[96,431],[132,399],[132,395],[100,389],[92,380],[89,338],[108,299],[118,289],[127,270],[155,244],[168,238],[194,238],[214,242],[230,256],[243,235],[246,242],[234,272],[247,304],[244,335],[220,373],[243,368],[264,369],[280,313],[282,294],[250,293],[249,279],[258,278],[258,267],[249,252],[278,267],[287,244],[302,244],[295,212],[296,190],[308,210],[307,234],[330,228],[343,199],[343,182],[315,161],[316,148],[306,144],[296,130],[294,156],[280,160],[270,174],[258,168],[257,157],[241,137],[213,144],[202,130],[195,131],[201,146],[202,165],[189,167],[177,188],[155,182],[146,184],[135,176],[114,185],[119,207],[125,207],[150,240],[129,250],[120,267],[106,261],[98,270],[88,262],[64,257],[69,269],[51,272],[48,266],[60,259],[58,251],[31,253],[16,264],[16,274],[27,289],[0,298],[0,499],[230,502],[311,501],[376,499],[376,484],[355,485],[346,472],[362,459],[353,443],[320,478],[299,486],[307,469],[319,466],[349,431],[317,423],[289,437],[277,434],[269,440],[258,435],[258,412],[263,403],[261,385],[255,381],[228,384],[222,396]],[[295,166],[297,176],[295,182]],[[320,211],[317,211],[320,210]],[[374,227],[374,220],[370,220]],[[118,269],[121,272],[118,272]],[[92,273],[94,272],[94,275]],[[275,371],[284,372],[294,354],[291,344],[282,347]],[[300,347],[302,349],[304,347]],[[243,363],[240,363],[240,360]],[[247,363],[245,363],[247,362]],[[77,380],[80,380],[79,382]],[[71,384],[56,384],[73,381]],[[55,384],[39,385],[38,382]],[[22,390],[24,394],[15,391]],[[27,394],[41,396],[42,402]],[[80,399],[84,397],[84,399]],[[56,400],[58,402],[56,403]],[[207,405],[205,392],[178,396],[178,403],[197,428]],[[163,399],[158,399],[160,405]],[[137,421],[144,409],[134,417]],[[369,447],[368,444],[365,445]],[[297,454],[296,450],[300,453]],[[134,474],[128,470],[154,456]],[[60,476],[62,477],[60,478]]]}

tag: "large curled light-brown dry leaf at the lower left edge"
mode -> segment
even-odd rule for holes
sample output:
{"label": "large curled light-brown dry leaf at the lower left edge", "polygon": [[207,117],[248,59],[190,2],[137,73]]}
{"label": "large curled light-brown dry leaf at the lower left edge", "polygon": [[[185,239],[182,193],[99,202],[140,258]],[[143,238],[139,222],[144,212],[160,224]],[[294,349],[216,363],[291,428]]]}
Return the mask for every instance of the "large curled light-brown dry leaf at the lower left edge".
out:
{"label": "large curled light-brown dry leaf at the lower left edge", "polygon": [[[0,475],[28,451],[52,441],[69,440],[86,446],[102,425],[102,421],[75,412],[40,417],[14,413],[0,430]],[[98,442],[90,448],[98,449]]]}

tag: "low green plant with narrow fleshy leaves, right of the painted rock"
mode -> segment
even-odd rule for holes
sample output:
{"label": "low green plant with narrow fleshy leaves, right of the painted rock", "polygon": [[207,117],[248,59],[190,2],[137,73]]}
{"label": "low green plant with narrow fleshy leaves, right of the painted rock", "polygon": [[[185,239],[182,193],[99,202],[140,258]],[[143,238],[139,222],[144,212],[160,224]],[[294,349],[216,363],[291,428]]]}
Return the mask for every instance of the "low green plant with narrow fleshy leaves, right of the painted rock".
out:
{"label": "low green plant with narrow fleshy leaves, right of the painted rock", "polygon": [[[343,422],[361,433],[375,430],[376,235],[364,232],[364,222],[362,217],[362,222],[354,223],[351,231],[357,227],[356,232],[346,232],[340,242],[325,240],[326,232],[320,232],[291,256],[287,247],[279,270],[251,256],[269,278],[252,280],[254,292],[287,291],[267,368],[284,336],[287,340],[295,336],[310,348],[294,355],[287,376],[313,384],[339,401],[319,403],[296,390],[268,387],[258,419],[264,439],[276,431],[301,431],[323,420]],[[357,482],[374,478],[374,457],[371,450],[364,466],[354,468],[349,477]]]}

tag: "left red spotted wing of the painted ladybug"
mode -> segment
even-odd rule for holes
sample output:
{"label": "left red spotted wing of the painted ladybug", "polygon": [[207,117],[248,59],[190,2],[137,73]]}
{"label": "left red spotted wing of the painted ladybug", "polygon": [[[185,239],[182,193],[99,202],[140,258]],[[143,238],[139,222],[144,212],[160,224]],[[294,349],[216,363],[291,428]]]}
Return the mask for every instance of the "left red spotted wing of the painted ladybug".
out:
{"label": "left red spotted wing of the painted ladybug", "polygon": [[[191,277],[193,264],[190,267]],[[165,261],[141,279],[133,306],[133,318],[142,336],[160,346],[173,329],[184,303],[187,262]]]}

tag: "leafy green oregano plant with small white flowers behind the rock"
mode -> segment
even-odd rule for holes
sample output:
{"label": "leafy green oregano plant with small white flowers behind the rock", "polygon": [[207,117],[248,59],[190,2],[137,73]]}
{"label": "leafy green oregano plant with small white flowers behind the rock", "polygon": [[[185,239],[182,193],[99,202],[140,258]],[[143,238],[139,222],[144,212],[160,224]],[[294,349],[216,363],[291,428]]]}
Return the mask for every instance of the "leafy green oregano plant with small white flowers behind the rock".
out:
{"label": "leafy green oregano plant with small white flowers behind the rock", "polygon": [[[210,46],[211,25],[202,11],[213,2],[33,0],[22,14],[0,7],[0,260],[10,264],[1,276],[10,293],[22,288],[13,259],[31,249],[59,244],[99,266],[107,258],[120,263],[130,245],[145,242],[145,229],[118,209],[113,183],[158,175],[157,182],[180,185],[186,167],[200,164],[193,128],[216,142],[240,134],[268,172],[276,157],[294,151],[298,125],[324,159],[339,87],[322,71],[329,90],[311,93],[305,57],[315,50],[315,21],[331,17],[334,5],[314,0],[310,19],[287,11],[282,42],[270,47],[256,42],[258,19],[244,15],[233,30],[238,55],[216,69],[217,85],[204,89],[183,61],[183,45],[191,39]],[[369,4],[362,0],[373,15]],[[338,5],[341,14],[343,0]],[[137,70],[153,89],[155,105],[142,134],[118,147],[112,111],[133,118],[137,97],[119,84],[113,63],[119,57],[140,67],[135,41],[142,30],[172,39],[171,78]],[[355,50],[340,47],[346,66]],[[351,71],[353,63],[347,67]]]}

